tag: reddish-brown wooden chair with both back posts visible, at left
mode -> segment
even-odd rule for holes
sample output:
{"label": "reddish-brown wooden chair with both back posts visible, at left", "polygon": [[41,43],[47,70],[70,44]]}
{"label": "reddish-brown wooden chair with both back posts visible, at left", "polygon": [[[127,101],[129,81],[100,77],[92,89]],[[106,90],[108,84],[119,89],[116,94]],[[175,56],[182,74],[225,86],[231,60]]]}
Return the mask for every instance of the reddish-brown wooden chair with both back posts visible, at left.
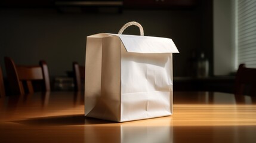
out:
{"label": "reddish-brown wooden chair with both back posts visible, at left", "polygon": [[32,82],[41,81],[41,91],[50,91],[50,78],[45,61],[39,61],[39,66],[18,66],[10,57],[5,57],[5,69],[13,94],[24,95],[34,92]]}

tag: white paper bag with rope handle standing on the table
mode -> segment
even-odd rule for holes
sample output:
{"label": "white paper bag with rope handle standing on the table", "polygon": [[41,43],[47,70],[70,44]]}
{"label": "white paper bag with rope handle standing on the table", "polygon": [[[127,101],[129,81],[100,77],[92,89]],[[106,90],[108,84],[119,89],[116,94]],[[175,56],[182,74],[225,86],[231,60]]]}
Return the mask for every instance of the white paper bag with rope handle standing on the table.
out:
{"label": "white paper bag with rope handle standing on the table", "polygon": [[[141,36],[121,35],[130,25]],[[143,36],[136,22],[118,35],[87,37],[85,116],[126,122],[172,114],[172,53],[168,38]]]}

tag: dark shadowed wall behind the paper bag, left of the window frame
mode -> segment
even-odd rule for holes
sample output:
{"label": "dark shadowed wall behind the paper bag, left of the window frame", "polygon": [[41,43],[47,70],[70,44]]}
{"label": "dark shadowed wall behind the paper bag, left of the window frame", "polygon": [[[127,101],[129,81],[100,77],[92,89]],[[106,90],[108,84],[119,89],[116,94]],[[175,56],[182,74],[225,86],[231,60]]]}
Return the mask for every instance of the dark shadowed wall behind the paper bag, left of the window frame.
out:
{"label": "dark shadowed wall behind the paper bag, left of the window frame", "polygon": [[[86,37],[117,33],[128,21],[137,21],[144,35],[171,38],[180,54],[174,54],[174,76],[192,75],[192,52],[205,52],[212,71],[212,4],[202,1],[189,9],[123,10],[122,13],[61,14],[54,8],[5,8],[0,10],[0,64],[4,56],[17,64],[47,61],[51,77],[66,75],[72,61],[85,64]],[[138,35],[137,27],[124,34]],[[210,71],[210,73],[212,73]]]}

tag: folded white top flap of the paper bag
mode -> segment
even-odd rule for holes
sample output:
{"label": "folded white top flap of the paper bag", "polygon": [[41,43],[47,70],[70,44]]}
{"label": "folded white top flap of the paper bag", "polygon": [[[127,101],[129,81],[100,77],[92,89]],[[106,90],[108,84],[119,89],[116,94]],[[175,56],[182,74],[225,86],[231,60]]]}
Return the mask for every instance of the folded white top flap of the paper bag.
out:
{"label": "folded white top flap of the paper bag", "polygon": [[139,53],[178,53],[172,39],[151,36],[116,35],[118,36],[128,52]]}

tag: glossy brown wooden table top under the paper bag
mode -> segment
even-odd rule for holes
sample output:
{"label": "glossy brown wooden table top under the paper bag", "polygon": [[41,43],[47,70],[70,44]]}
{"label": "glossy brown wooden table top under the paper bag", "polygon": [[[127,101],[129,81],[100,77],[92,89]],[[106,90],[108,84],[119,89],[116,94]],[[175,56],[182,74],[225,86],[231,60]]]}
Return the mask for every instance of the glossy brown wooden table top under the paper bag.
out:
{"label": "glossy brown wooden table top under the paper bag", "polygon": [[174,114],[114,123],[84,117],[81,93],[0,98],[0,142],[256,142],[255,98],[174,92]]}

